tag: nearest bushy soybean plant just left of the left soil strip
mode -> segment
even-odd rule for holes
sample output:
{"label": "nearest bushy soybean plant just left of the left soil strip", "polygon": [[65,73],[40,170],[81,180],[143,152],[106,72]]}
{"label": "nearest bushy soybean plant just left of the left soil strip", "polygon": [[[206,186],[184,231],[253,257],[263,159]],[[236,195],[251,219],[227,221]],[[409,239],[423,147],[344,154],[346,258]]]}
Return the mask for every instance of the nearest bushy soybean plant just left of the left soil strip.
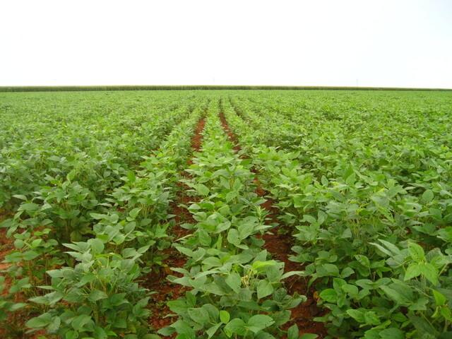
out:
{"label": "nearest bushy soybean plant just left of the left soil strip", "polygon": [[146,323],[148,292],[137,282],[148,247],[115,253],[98,237],[65,246],[76,266],[47,272],[52,284],[41,288],[50,292],[30,299],[47,311],[26,325],[67,339],[155,338]]}

